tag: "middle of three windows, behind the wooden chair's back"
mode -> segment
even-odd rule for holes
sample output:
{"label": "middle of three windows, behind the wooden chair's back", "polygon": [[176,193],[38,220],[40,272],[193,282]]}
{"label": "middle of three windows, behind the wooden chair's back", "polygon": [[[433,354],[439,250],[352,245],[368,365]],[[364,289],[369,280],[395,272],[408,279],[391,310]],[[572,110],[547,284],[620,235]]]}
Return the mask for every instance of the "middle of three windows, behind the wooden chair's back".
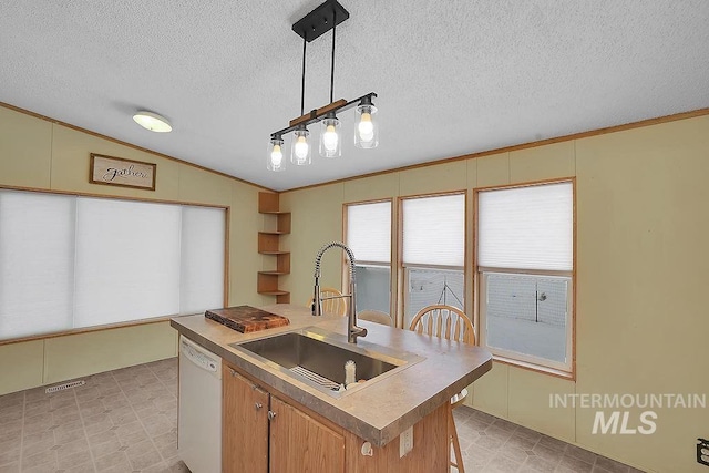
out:
{"label": "middle of three windows, behind the wooden chair's back", "polygon": [[446,304],[465,310],[465,194],[402,200],[404,322]]}

